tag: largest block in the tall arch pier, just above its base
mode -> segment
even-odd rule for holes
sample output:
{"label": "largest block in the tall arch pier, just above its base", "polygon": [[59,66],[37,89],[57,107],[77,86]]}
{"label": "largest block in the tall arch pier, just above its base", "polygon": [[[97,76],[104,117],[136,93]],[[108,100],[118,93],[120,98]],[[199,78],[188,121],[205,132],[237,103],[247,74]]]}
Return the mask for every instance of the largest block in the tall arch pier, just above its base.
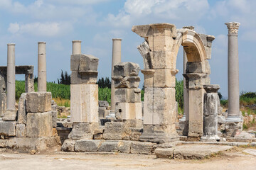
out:
{"label": "largest block in the tall arch pier, just above its base", "polygon": [[175,106],[174,88],[146,87],[144,93],[144,125],[174,123],[176,121]]}

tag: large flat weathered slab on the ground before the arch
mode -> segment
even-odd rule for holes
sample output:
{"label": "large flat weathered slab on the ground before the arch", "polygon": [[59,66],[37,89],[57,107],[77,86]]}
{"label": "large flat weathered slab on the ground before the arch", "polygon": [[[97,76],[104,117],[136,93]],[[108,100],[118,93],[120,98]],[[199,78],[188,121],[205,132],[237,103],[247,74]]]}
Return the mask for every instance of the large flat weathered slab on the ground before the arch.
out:
{"label": "large flat weathered slab on the ground before the arch", "polygon": [[174,147],[176,159],[204,159],[211,154],[224,152],[233,147],[223,145],[181,145]]}

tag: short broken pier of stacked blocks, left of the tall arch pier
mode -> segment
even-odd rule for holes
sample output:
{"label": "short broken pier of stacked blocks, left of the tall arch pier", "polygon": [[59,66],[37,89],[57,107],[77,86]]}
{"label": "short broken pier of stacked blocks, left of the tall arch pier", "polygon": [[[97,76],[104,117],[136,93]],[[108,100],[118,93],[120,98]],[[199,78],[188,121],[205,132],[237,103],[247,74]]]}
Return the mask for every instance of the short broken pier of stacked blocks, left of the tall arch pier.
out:
{"label": "short broken pier of stacked blocks, left of the tall arch pier", "polygon": [[141,90],[138,89],[140,77],[139,64],[119,62],[114,65],[114,101],[117,120],[141,120]]}

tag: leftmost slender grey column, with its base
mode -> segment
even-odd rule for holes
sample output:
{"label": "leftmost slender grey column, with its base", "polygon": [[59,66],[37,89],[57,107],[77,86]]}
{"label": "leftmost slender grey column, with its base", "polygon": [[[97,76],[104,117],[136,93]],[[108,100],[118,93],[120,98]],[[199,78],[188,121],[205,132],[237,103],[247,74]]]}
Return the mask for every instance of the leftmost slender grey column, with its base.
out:
{"label": "leftmost slender grey column, with its base", "polygon": [[7,97],[3,120],[15,120],[15,44],[8,44],[7,48]]}

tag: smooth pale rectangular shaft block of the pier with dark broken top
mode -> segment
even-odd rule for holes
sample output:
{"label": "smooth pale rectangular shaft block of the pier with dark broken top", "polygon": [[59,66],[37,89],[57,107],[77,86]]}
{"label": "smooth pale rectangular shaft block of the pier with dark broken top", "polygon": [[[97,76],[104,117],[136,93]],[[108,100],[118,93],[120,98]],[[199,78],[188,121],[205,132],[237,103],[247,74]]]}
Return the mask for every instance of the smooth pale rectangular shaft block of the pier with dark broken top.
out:
{"label": "smooth pale rectangular shaft block of the pier with dark broken top", "polygon": [[99,119],[98,85],[71,84],[71,122],[97,123]]}

